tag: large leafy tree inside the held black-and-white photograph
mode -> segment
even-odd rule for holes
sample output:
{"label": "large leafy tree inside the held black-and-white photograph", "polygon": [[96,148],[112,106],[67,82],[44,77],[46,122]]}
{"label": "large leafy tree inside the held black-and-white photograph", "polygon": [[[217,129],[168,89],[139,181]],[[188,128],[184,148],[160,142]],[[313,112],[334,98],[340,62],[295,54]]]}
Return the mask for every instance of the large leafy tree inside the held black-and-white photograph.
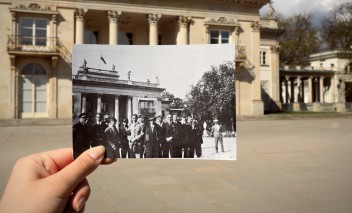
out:
{"label": "large leafy tree inside the held black-and-white photograph", "polygon": [[235,68],[232,62],[212,66],[187,94],[188,110],[201,123],[210,124],[214,117],[227,130],[236,129]]}

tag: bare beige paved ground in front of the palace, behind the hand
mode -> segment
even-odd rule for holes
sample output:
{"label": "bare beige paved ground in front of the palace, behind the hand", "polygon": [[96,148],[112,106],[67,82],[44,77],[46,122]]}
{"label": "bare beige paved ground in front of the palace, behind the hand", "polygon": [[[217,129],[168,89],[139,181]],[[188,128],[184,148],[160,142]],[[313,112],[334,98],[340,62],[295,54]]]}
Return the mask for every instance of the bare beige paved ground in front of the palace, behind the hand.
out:
{"label": "bare beige paved ground in front of the palace, behind the hand", "polygon": [[[352,119],[242,120],[237,160],[119,160],[86,212],[352,212]],[[18,157],[69,147],[71,126],[1,126],[0,193]]]}

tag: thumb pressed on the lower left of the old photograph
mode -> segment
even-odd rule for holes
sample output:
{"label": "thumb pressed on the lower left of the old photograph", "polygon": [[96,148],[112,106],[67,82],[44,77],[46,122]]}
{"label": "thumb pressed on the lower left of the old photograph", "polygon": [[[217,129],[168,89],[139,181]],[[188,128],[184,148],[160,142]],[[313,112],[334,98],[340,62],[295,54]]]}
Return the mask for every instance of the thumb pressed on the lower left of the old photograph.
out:
{"label": "thumb pressed on the lower left of the old photograph", "polygon": [[53,175],[54,183],[61,186],[59,194],[69,196],[78,184],[100,165],[104,153],[104,146],[91,148]]}

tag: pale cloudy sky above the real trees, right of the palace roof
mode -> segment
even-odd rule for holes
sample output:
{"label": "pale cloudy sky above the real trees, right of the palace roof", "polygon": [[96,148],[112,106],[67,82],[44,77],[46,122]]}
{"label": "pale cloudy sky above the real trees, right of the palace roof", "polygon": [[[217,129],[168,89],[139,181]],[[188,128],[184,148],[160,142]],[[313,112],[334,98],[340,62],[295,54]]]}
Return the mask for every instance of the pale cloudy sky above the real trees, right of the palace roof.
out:
{"label": "pale cloudy sky above the real trees, right of the palace roof", "polygon": [[[272,0],[276,12],[284,16],[306,12],[313,13],[313,23],[320,25],[321,18],[337,5],[351,0]],[[268,6],[264,6],[260,13],[266,14]]]}

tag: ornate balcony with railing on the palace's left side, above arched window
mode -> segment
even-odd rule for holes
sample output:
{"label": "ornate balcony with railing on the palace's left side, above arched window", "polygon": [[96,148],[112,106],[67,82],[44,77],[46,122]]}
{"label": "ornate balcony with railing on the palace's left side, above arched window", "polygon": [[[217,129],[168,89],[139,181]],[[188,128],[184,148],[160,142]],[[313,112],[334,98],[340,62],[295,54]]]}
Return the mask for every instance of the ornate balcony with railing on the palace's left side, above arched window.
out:
{"label": "ornate balcony with railing on the palace's left side, above arched window", "polygon": [[57,37],[33,37],[9,35],[7,51],[12,55],[60,55],[68,64],[72,64],[72,54]]}

